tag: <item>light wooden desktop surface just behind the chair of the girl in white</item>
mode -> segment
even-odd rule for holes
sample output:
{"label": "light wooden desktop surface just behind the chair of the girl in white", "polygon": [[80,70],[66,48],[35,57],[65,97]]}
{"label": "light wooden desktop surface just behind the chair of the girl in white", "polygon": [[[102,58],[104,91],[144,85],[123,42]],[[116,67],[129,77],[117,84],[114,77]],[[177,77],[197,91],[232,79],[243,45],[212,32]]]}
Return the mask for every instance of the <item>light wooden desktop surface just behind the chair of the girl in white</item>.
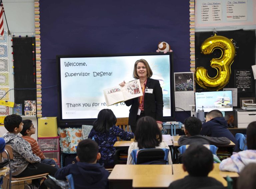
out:
{"label": "light wooden desktop surface just behind the chair of the girl in white", "polygon": [[138,175],[172,175],[172,165],[122,165],[117,164],[110,173],[111,180],[132,180]]}

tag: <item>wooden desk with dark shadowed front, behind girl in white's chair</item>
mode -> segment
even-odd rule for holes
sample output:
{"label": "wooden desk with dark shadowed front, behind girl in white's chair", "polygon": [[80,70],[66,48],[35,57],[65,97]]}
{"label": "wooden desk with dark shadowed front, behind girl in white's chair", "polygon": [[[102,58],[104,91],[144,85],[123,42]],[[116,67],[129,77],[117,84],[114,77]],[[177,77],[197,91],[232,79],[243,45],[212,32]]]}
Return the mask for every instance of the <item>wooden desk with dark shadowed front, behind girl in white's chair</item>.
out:
{"label": "wooden desk with dark shadowed front, behind girl in white's chair", "polygon": [[[172,175],[172,165],[115,165],[110,173],[108,180],[110,189],[127,189],[132,188],[132,180],[138,176],[144,178],[166,175]],[[168,185],[169,186],[169,185]]]}

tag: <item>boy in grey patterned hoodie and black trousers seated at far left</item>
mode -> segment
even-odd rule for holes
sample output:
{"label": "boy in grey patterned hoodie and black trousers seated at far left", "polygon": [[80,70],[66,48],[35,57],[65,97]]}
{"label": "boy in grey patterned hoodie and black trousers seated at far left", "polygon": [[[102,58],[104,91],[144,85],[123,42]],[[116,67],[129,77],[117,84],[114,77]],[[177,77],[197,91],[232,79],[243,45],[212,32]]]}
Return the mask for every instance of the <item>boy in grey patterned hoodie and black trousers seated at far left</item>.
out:
{"label": "boy in grey patterned hoodie and black trousers seated at far left", "polygon": [[[22,117],[16,114],[7,115],[4,118],[4,127],[9,131],[3,135],[6,145],[12,147],[13,159],[11,160],[13,177],[27,177],[37,174],[49,173],[54,175],[57,168],[40,163],[41,159],[33,154],[30,144],[18,135],[22,131]],[[40,186],[41,179],[33,179],[32,185],[26,185],[26,188],[35,188]],[[47,187],[44,183],[40,188]]]}

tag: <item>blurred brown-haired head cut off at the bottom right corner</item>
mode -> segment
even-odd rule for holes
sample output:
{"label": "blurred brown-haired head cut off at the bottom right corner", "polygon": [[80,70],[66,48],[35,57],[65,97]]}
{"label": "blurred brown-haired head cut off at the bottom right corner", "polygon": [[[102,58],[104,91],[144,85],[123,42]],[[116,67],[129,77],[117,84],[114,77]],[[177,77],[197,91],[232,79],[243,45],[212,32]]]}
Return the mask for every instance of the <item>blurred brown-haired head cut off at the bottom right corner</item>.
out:
{"label": "blurred brown-haired head cut off at the bottom right corner", "polygon": [[255,189],[256,163],[249,163],[240,172],[237,179],[237,189]]}

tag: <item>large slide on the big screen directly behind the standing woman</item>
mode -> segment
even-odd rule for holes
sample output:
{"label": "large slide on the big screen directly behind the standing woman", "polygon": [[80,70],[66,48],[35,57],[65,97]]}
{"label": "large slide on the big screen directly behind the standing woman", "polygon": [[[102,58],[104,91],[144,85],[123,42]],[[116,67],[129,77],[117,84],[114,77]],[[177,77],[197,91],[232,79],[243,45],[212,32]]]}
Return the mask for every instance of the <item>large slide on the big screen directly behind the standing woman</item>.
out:
{"label": "large slide on the big screen directly behind the standing woman", "polygon": [[104,89],[120,82],[134,80],[135,61],[145,59],[152,79],[159,80],[163,90],[164,116],[171,116],[170,60],[166,55],[60,58],[62,119],[96,118],[103,108],[112,109],[116,117],[128,117],[130,107],[124,102],[107,106]]}

